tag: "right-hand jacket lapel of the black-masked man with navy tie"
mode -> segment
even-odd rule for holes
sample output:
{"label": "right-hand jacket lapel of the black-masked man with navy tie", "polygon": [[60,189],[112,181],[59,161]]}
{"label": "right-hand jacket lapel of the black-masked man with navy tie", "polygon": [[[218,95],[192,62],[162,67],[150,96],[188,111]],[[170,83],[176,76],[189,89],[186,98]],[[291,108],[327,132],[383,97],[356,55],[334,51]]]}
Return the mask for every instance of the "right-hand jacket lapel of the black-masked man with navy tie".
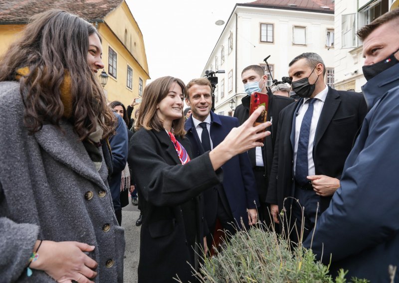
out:
{"label": "right-hand jacket lapel of the black-masked man with navy tie", "polygon": [[338,98],[338,92],[328,87],[326,101],[324,102],[319,121],[317,122],[314,148],[316,148],[321,137],[323,137],[324,132],[326,132],[328,125],[330,125],[331,119],[333,119],[335,112],[337,112],[337,109],[341,103],[341,100]]}

